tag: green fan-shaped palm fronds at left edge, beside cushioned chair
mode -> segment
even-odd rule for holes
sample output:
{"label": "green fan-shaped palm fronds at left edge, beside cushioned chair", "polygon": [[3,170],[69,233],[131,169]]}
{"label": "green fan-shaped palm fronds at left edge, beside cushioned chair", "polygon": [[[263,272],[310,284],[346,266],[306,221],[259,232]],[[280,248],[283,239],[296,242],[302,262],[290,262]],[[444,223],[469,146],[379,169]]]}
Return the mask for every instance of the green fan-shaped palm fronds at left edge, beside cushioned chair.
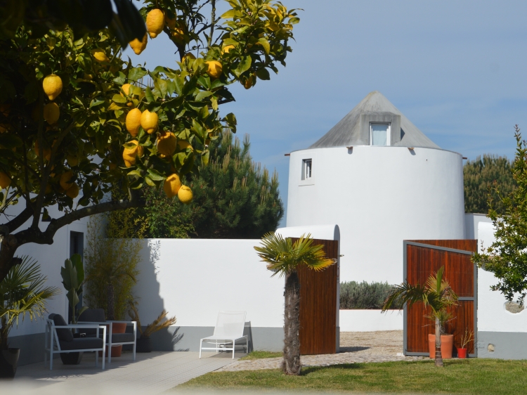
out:
{"label": "green fan-shaped palm fronds at left edge, beside cushioned chair", "polygon": [[18,318],[43,318],[46,300],[60,293],[57,287],[44,287],[46,277],[40,273],[37,261],[22,257],[0,283],[0,349],[8,349],[7,337]]}

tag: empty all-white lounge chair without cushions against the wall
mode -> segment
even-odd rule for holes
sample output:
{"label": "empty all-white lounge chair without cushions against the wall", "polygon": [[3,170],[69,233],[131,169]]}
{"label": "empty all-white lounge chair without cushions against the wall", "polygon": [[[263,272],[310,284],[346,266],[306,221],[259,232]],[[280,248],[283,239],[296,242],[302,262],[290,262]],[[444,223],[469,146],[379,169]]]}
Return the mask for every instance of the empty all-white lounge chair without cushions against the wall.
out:
{"label": "empty all-white lounge chair without cushions against the wall", "polygon": [[[243,335],[243,329],[245,328],[245,311],[220,311],[218,313],[218,319],[216,320],[216,327],[214,328],[214,335],[204,337],[200,339],[200,358],[202,350],[216,350],[218,351],[230,351],[236,348],[236,340],[245,339],[245,346],[238,344],[238,346],[244,347],[245,352],[249,352],[249,337]],[[216,344],[216,347],[203,347],[203,343]],[[228,346],[232,345],[232,348]]]}

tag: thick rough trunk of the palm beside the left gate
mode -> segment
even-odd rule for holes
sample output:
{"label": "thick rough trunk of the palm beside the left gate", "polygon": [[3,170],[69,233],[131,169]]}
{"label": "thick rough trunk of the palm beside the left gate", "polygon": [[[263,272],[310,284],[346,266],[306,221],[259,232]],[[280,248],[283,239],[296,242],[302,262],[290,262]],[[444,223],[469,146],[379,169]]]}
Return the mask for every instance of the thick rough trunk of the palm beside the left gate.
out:
{"label": "thick rough trunk of the palm beside the left gate", "polygon": [[286,375],[299,375],[301,370],[298,333],[300,328],[300,283],[297,271],[286,275],[284,297],[284,361],[282,362],[282,370]]}

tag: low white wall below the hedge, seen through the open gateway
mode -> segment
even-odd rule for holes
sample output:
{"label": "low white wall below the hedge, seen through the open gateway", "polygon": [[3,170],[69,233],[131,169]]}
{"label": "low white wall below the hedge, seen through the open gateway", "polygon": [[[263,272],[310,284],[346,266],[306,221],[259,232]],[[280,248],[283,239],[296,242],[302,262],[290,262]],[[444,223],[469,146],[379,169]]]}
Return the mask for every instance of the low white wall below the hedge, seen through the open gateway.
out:
{"label": "low white wall below the hedge, seen through the open gateway", "polygon": [[403,313],[398,310],[341,310],[341,332],[373,332],[377,330],[403,330]]}

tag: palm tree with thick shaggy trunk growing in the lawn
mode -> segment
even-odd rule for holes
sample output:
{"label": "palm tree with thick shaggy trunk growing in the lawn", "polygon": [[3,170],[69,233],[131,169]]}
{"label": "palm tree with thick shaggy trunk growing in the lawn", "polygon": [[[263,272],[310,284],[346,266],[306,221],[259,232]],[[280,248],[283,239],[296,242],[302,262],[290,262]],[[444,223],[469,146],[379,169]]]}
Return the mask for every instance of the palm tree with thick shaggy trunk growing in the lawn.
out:
{"label": "palm tree with thick shaggy trunk growing in the lawn", "polygon": [[[287,375],[299,375],[300,342],[299,342],[299,304],[300,283],[297,273],[299,265],[304,264],[315,271],[323,270],[335,263],[335,259],[325,257],[323,245],[313,245],[311,234],[301,235],[292,242],[274,232],[266,233],[261,239],[261,247],[254,247],[268,270],[285,276],[284,307],[284,360],[282,370]],[[272,277],[272,276],[271,276]]]}

